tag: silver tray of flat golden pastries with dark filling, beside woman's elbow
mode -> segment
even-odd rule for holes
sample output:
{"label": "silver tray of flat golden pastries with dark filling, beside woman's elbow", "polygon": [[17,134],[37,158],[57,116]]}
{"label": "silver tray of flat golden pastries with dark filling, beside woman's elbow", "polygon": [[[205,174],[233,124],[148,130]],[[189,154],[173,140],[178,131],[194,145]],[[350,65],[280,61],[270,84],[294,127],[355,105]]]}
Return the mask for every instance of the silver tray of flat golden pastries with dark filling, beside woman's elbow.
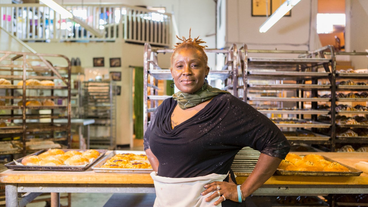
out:
{"label": "silver tray of flat golden pastries with dark filling, beside woman's elbow", "polygon": [[145,151],[115,150],[94,166],[95,172],[151,173],[153,171]]}

